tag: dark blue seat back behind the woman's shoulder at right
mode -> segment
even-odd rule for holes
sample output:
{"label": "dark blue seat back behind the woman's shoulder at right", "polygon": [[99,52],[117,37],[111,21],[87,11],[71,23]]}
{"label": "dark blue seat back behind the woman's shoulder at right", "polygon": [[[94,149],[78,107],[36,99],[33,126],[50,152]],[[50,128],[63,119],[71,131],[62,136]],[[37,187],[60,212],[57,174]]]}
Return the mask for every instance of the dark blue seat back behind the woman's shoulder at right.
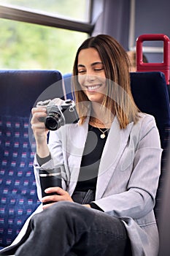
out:
{"label": "dark blue seat back behind the woman's shoulder at right", "polygon": [[163,200],[163,184],[166,175],[166,153],[169,146],[170,109],[169,92],[165,76],[162,72],[134,72],[131,73],[131,91],[139,110],[155,117],[155,121],[161,138],[163,154],[161,158],[161,177],[155,200],[155,217],[161,211]]}

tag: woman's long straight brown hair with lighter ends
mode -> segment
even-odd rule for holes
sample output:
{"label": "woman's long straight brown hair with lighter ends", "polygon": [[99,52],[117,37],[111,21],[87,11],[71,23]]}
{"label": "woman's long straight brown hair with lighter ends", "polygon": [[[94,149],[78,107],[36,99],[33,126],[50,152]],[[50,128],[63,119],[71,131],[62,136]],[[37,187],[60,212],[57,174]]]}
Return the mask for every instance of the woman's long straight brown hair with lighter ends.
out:
{"label": "woman's long straight brown hair with lighter ends", "polygon": [[[106,34],[98,34],[96,37],[90,37],[82,42],[74,60],[73,67],[73,86],[76,103],[89,101],[88,97],[81,90],[78,82],[78,56],[80,50],[87,48],[95,48],[104,65],[104,72],[107,82],[107,95],[104,96],[102,105],[109,108],[117,116],[120,128],[125,128],[131,121],[138,121],[139,109],[136,107],[131,94],[129,59],[123,47]],[[112,100],[114,98],[114,100]],[[80,107],[79,107],[80,105]],[[80,114],[80,124],[83,124],[87,117],[85,108],[81,104],[77,104]],[[84,113],[83,113],[84,112]]]}

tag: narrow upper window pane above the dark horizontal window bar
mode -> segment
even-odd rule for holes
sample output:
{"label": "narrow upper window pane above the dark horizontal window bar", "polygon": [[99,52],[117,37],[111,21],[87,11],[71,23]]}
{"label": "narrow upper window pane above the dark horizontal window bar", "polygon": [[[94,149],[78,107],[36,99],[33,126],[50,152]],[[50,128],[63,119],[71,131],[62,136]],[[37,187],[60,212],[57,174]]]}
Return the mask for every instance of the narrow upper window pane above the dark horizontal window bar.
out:
{"label": "narrow upper window pane above the dark horizontal window bar", "polygon": [[2,0],[0,4],[48,12],[64,18],[89,22],[90,0]]}

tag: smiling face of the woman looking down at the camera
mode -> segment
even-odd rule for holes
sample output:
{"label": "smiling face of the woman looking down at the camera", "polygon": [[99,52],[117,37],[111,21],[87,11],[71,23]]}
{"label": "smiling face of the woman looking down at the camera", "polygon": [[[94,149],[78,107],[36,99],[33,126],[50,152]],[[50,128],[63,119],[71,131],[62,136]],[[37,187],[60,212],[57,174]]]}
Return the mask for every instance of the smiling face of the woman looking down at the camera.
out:
{"label": "smiling face of the woman looking down at the camera", "polygon": [[80,50],[78,56],[78,80],[91,102],[102,103],[107,93],[104,65],[95,48]]}

